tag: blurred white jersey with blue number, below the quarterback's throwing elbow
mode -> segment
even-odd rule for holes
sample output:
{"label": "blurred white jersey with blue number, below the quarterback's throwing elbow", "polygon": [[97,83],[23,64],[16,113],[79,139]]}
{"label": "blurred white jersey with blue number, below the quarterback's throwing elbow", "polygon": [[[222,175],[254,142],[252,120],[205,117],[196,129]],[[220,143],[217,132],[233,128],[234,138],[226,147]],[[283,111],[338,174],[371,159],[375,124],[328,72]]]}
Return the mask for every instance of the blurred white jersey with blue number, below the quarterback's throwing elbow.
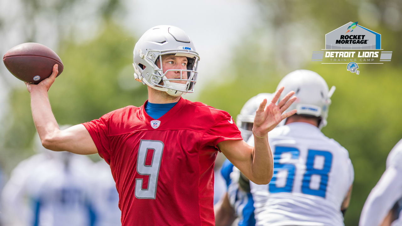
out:
{"label": "blurred white jersey with blue number, below the quarterback's throwing elbow", "polygon": [[33,210],[30,225],[90,226],[94,222],[88,173],[92,161],[71,155],[68,163],[58,158],[43,162],[28,179]]}

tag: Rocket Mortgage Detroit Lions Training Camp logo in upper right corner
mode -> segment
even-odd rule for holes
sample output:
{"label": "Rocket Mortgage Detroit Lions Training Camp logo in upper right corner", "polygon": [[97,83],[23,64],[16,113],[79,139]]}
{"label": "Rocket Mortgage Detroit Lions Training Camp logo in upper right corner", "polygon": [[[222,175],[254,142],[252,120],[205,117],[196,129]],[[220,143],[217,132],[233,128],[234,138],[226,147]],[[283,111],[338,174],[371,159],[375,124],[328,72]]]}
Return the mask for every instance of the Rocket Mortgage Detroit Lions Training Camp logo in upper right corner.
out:
{"label": "Rocket Mortgage Detroit Lions Training Camp logo in upper right corner", "polygon": [[[321,64],[345,64],[359,74],[358,64],[384,64],[391,61],[392,51],[381,49],[381,35],[349,22],[325,35],[325,49],[313,51],[311,60]],[[352,64],[351,64],[352,63]]]}

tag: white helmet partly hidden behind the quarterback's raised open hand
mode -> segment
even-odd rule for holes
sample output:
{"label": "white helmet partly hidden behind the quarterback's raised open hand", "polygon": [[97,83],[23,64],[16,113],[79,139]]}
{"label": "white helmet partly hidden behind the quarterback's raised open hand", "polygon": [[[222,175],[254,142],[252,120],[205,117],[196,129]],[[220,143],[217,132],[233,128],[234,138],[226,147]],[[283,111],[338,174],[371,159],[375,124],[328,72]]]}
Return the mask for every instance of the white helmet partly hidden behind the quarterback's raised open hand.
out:
{"label": "white helmet partly hidden behind the quarterback's raised open hand", "polygon": [[255,113],[260,107],[261,102],[267,99],[267,104],[272,100],[271,93],[260,93],[250,98],[240,110],[240,114],[236,117],[236,125],[239,128],[242,138],[247,142],[248,138],[252,135],[252,125],[254,123]]}

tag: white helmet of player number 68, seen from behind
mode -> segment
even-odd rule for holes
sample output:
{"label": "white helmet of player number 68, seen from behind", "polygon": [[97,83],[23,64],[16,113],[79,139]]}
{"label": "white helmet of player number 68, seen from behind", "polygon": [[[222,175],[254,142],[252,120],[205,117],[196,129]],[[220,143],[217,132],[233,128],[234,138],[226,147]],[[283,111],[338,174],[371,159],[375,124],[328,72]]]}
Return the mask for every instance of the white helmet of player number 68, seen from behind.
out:
{"label": "white helmet of player number 68, seen from behind", "polygon": [[[297,115],[312,115],[319,117],[320,123],[318,127],[326,126],[328,117],[328,109],[331,104],[331,96],[335,91],[335,86],[331,87],[328,91],[328,85],[324,78],[316,72],[310,70],[295,70],[287,74],[279,82],[277,90],[284,86],[279,100],[283,99],[285,95],[291,90],[295,91],[296,101],[290,105],[285,111],[297,109]],[[282,120],[279,125],[284,125],[285,120]]]}

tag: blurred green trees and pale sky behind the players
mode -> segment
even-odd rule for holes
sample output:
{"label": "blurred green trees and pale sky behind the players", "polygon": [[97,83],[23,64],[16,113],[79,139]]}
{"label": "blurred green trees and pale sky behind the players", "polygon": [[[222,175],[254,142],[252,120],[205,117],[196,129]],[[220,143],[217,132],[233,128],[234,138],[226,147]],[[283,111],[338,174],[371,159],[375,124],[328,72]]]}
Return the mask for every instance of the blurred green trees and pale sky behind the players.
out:
{"label": "blurred green trees and pale sky behind the players", "polygon": [[[392,61],[362,64],[359,75],[343,64],[311,62],[325,34],[350,21],[380,33]],[[58,123],[73,125],[146,101],[146,86],[133,78],[132,51],[142,33],[160,24],[186,31],[201,57],[196,92],[184,98],[234,118],[250,97],[274,92],[287,73],[313,70],[336,86],[322,131],[349,151],[355,182],[345,225],[357,225],[402,138],[401,22],[400,0],[0,0],[0,53],[25,42],[53,49],[64,71],[49,99]],[[29,93],[4,64],[0,121],[1,189],[18,162],[36,153]]]}

